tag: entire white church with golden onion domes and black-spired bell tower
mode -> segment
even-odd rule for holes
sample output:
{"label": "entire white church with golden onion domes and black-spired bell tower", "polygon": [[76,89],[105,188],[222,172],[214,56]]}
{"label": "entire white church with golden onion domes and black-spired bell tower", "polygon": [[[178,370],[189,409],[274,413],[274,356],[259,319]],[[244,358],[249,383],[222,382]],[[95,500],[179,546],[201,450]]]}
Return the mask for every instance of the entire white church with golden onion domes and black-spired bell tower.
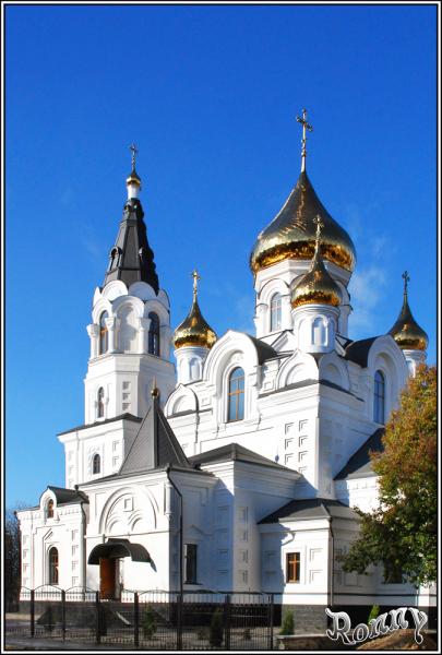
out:
{"label": "entire white church with golden onion domes and black-spired bell tower", "polygon": [[84,424],[58,434],[65,486],[17,513],[25,587],[262,591],[320,623],[325,607],[431,606],[431,590],[397,571],[339,563],[358,532],[353,508],[377,504],[369,452],[428,338],[407,277],[392,330],[349,336],[355,247],[307,175],[300,122],[301,174],[250,258],[253,335],[217,337],[196,272],[171,329],[133,156],[87,325]]}

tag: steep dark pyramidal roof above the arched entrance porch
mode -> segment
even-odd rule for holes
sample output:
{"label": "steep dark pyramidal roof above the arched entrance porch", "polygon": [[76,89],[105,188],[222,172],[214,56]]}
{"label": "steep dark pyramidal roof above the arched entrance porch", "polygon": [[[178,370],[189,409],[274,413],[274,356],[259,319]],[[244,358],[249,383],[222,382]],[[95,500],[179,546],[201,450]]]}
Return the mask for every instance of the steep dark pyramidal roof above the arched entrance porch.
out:
{"label": "steep dark pyramidal roof above the arched entrance porch", "polygon": [[159,407],[158,396],[155,395],[118,476],[147,473],[169,464],[192,468]]}

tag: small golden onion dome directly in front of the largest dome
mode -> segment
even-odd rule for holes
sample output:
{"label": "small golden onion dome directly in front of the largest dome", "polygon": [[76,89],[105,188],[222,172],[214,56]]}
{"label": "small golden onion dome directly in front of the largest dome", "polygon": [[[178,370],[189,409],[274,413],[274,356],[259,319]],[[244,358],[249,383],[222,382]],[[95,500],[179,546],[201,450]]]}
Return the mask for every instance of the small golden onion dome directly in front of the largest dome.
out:
{"label": "small golden onion dome directly in front of the largest dome", "polygon": [[301,305],[332,305],[338,307],[343,296],[338,285],[324,266],[319,248],[310,270],[304,273],[291,291],[291,307]]}

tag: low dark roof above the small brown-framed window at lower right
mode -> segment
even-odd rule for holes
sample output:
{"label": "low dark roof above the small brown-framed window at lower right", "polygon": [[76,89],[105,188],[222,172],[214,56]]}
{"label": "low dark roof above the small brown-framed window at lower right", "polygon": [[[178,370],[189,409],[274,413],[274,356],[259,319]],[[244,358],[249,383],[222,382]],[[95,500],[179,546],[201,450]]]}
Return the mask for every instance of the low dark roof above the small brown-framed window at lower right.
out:
{"label": "low dark roof above the small brown-framed window at lower right", "polygon": [[355,519],[356,512],[348,505],[330,498],[308,498],[290,500],[268,516],[261,519],[259,524],[280,523],[284,521],[303,521],[307,519]]}

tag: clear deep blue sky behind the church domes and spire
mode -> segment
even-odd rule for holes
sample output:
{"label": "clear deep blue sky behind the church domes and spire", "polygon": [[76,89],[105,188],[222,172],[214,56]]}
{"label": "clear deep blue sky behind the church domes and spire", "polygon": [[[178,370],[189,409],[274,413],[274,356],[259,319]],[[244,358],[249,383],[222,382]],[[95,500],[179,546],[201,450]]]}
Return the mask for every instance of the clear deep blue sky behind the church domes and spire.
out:
{"label": "clear deep blue sky behind the church domes and spire", "polygon": [[176,326],[190,272],[218,334],[253,331],[248,266],[308,171],[350,234],[353,338],[410,306],[435,361],[435,7],[8,7],[7,503],[64,484],[56,433],[84,420],[94,289],[135,142]]}

